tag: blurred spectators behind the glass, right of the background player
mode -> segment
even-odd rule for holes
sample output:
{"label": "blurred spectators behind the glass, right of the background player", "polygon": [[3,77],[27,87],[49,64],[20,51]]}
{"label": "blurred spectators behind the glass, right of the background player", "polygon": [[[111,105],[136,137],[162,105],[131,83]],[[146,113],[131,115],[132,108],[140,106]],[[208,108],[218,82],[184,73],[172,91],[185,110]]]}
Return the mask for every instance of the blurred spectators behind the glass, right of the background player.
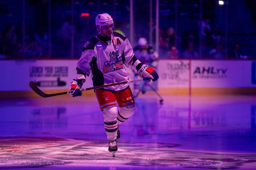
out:
{"label": "blurred spectators behind the glass, right of the background player", "polygon": [[178,36],[177,45],[175,45],[174,28],[160,29],[160,57],[169,59],[248,59],[248,56],[241,53],[239,42],[234,42],[231,45],[226,58],[225,37],[219,33],[219,26],[215,25],[212,31],[209,25],[203,24],[202,28],[201,56],[199,55],[198,34],[188,33]]}

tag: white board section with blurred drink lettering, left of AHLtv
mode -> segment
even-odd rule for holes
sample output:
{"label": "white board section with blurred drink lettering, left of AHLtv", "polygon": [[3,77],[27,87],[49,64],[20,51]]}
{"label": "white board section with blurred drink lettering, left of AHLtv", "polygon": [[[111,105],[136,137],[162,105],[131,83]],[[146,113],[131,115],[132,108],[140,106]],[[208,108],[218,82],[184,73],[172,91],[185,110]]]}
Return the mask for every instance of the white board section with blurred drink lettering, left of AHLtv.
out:
{"label": "white board section with blurred drink lettering, left of AHLtv", "polygon": [[160,60],[157,72],[159,88],[187,88],[189,85],[189,60]]}

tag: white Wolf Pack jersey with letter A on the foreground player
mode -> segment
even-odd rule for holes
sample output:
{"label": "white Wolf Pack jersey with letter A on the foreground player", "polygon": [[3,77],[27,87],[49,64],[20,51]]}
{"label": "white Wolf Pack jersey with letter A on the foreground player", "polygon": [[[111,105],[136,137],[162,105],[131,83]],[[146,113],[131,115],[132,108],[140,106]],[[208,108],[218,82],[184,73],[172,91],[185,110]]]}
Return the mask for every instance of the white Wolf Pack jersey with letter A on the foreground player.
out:
{"label": "white Wolf Pack jersey with letter A on the foreground player", "polygon": [[[101,41],[98,36],[86,42],[77,62],[77,80],[85,79],[85,76],[91,73],[94,87],[128,80],[124,64],[135,69],[140,61],[133,54],[133,48],[128,39],[117,32],[113,34],[114,37],[112,35],[108,43]],[[129,84],[122,84],[104,89],[118,91],[128,86]]]}

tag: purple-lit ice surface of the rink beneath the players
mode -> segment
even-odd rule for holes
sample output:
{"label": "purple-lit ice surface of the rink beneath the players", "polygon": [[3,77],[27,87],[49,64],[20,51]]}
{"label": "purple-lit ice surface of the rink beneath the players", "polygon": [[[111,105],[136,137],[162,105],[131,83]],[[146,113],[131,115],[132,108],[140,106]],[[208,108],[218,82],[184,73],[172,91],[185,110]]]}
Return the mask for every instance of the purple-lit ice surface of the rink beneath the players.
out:
{"label": "purple-lit ice surface of the rink beneath the players", "polygon": [[255,96],[136,98],[108,152],[94,96],[1,100],[0,168],[253,169]]}

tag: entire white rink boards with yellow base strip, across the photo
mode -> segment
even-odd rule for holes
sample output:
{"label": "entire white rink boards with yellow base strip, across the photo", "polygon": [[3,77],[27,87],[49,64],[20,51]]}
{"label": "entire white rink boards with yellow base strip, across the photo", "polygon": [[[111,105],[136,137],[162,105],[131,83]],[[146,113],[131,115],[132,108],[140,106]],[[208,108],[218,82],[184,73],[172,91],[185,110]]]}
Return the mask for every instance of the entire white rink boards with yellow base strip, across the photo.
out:
{"label": "entire white rink boards with yellow base strip, across the photo", "polygon": [[[46,92],[68,91],[76,64],[77,60],[0,61],[1,97],[8,91],[31,91],[30,81]],[[132,71],[126,69],[133,80]],[[158,90],[164,94],[188,94],[190,89],[192,94],[255,94],[255,60],[159,60],[157,72]],[[87,87],[92,87],[90,78],[83,85]]]}

